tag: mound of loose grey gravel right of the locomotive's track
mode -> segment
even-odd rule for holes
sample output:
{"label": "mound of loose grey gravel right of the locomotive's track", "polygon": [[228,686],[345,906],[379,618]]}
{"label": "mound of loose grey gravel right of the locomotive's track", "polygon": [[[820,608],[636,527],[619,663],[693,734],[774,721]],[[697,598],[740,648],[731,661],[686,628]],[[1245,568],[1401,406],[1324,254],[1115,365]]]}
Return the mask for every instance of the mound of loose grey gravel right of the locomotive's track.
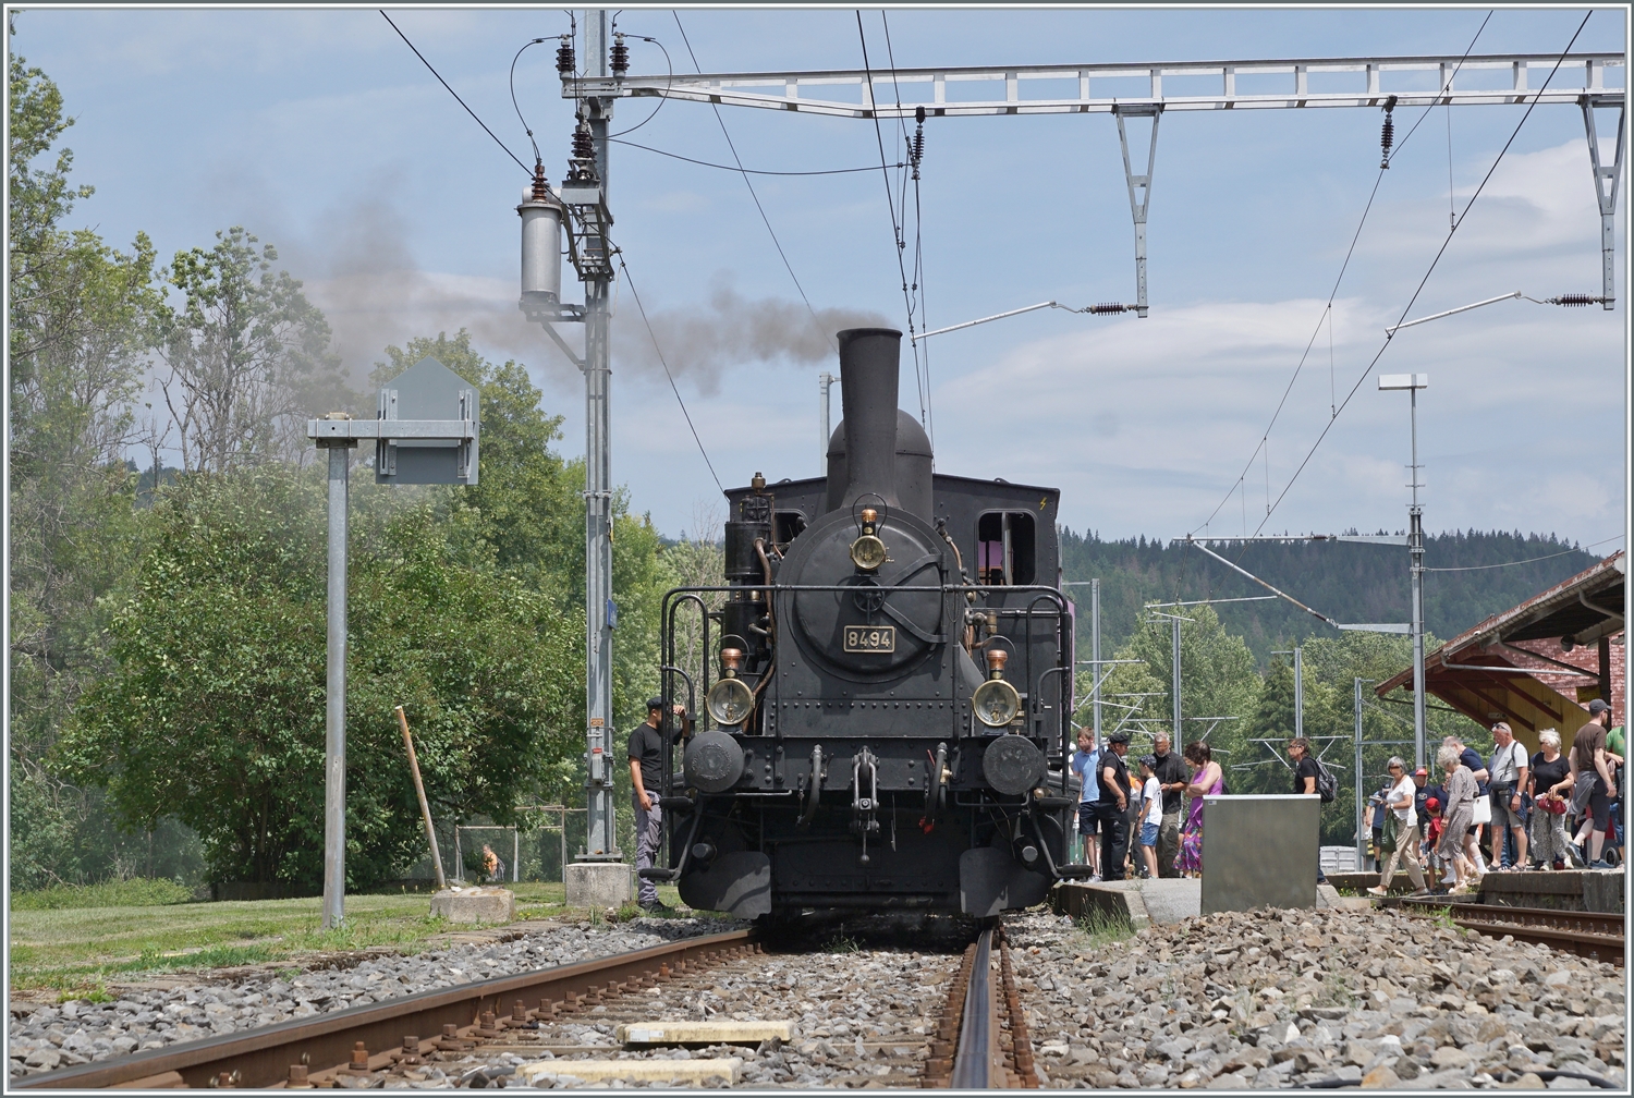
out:
{"label": "mound of loose grey gravel right of the locomotive's track", "polygon": [[1054,915],[1007,928],[1051,1087],[1624,1087],[1623,971],[1547,946],[1392,910],[1232,912],[1093,951]]}

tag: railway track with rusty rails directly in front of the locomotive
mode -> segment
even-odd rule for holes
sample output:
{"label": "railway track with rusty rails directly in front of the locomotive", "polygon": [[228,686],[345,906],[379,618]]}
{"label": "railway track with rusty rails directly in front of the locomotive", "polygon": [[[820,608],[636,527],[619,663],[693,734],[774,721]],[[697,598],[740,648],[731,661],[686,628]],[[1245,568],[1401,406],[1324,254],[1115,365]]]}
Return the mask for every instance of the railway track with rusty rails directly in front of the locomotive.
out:
{"label": "railway track with rusty rails directly in front of the locomotive", "polygon": [[[879,969],[892,959],[900,962],[900,971],[861,975],[869,964]],[[948,962],[954,959],[956,972],[949,972]],[[750,931],[734,931],[404,995],[322,1018],[10,1082],[16,1090],[487,1087],[533,1078],[538,1072],[546,1078],[575,1077],[577,1072],[592,1083],[606,1077],[592,1077],[593,1070],[613,1069],[619,1072],[616,1077],[627,1078],[647,1078],[644,1070],[662,1073],[668,1069],[652,1060],[673,1067],[675,1044],[694,1049],[708,1044],[714,1047],[693,1059],[691,1067],[725,1072],[735,1082],[745,1062],[757,1065],[760,1075],[750,1075],[743,1085],[1038,1085],[1026,1015],[1002,928],[987,928],[962,954],[887,951],[858,954],[855,962],[858,975],[838,984],[873,980],[886,985],[887,990],[874,995],[879,1002],[874,1016],[868,1016],[868,1010],[851,1013],[850,1003],[824,1010],[817,1024],[799,1024],[812,1031],[809,1039],[796,1034],[789,1021],[781,1023],[783,1038],[776,1036],[779,1023],[770,1023],[765,1038],[745,1041],[743,1034],[753,1031],[757,1018],[801,1016],[801,1010],[810,1006],[799,1003],[801,998],[845,1002],[832,987],[812,980],[815,974],[827,974],[832,982],[835,971],[851,961],[819,951],[768,953]],[[917,984],[912,992],[889,990],[892,984],[910,982]],[[716,1003],[714,1010],[704,1010],[706,1000]],[[642,1028],[709,1013],[750,1021],[725,1023],[737,1033],[730,1039],[693,1036],[641,1042]],[[806,1015],[807,1021],[810,1016]],[[850,1024],[835,1024],[835,1018]],[[926,1034],[931,1026],[935,1033]],[[794,1042],[784,1047],[781,1041],[788,1038]],[[757,1039],[761,1042],[753,1056],[742,1051]],[[739,1046],[739,1051],[719,1047],[722,1044]],[[616,1057],[616,1064],[609,1065],[605,1057]]]}

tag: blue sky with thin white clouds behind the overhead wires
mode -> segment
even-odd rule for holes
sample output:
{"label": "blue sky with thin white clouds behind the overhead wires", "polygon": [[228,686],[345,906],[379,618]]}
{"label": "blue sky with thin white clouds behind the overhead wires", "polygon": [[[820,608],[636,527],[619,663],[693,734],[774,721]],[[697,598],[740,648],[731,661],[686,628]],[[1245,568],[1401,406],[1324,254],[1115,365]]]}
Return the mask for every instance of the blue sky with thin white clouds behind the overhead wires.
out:
{"label": "blue sky with thin white clouds behind the overhead wires", "polygon": [[[515,98],[560,180],[565,13],[389,13],[526,162],[508,74],[525,42],[551,38],[516,60]],[[861,33],[874,67],[1458,57],[1472,39],[1477,54],[1560,51],[1587,13],[868,8]],[[861,65],[851,8],[624,8],[618,28],[659,39],[631,41],[632,74]],[[1575,49],[1621,51],[1626,34],[1623,10],[1595,10]],[[160,257],[245,225],[304,279],[359,384],[386,345],[464,327],[489,358],[528,366],[564,417],[560,453],[583,453],[582,376],[516,310],[526,175],[377,10],[49,7],[18,15],[11,49],[75,118],[74,178],[96,188],[77,224],[111,242],[147,232]],[[1606,78],[1623,87],[1621,69]],[[616,129],[654,105],[621,100]],[[1150,315],[1046,309],[933,337],[928,394],[904,355],[902,407],[922,415],[928,400],[940,472],[1059,487],[1062,523],[1101,538],[1394,531],[1407,521],[1407,394],[1374,377],[1428,373],[1426,529],[1556,533],[1611,552],[1623,542],[1605,539],[1627,524],[1624,302],[1507,301],[1404,330],[1379,355],[1404,310],[1600,292],[1582,113],[1538,106],[1516,132],[1523,114],[1404,108],[1381,173],[1377,109],[1170,113],[1149,211]],[[1111,116],[931,119],[925,139],[920,227],[907,230],[909,253],[915,240],[923,253],[920,330],[1041,301],[1132,301]],[[876,136],[868,121],[717,118],[683,101],[627,141],[714,163],[735,147],[766,170],[877,165],[881,142],[902,158],[894,124]],[[817,374],[837,363],[814,327],[905,327],[887,190],[879,172],[755,176],[752,196],[735,172],[627,145],[609,176],[629,270],[614,297],[613,477],[665,534],[696,533],[719,508],[716,477],[820,472]],[[1462,217],[1451,240],[1449,209]],[[1624,209],[1619,196],[1619,296]],[[570,268],[564,278],[578,301]]]}

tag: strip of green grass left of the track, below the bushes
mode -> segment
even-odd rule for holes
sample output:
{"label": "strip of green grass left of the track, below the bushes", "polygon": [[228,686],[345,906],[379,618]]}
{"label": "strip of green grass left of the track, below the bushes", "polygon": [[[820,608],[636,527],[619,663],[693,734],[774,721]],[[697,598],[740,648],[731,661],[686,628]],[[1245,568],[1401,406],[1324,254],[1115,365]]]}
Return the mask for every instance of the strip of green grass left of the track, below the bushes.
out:
{"label": "strip of green grass left of the track, below the bushes", "polygon": [[[518,918],[587,915],[564,904],[560,884],[510,887],[516,892]],[[659,892],[665,904],[678,902],[673,886]],[[13,990],[56,989],[69,997],[98,997],[106,993],[109,979],[129,980],[137,972],[265,964],[369,946],[418,953],[433,935],[469,928],[431,918],[430,907],[426,892],[348,895],[345,925],[324,933],[317,897],[49,910],[29,910],[25,900],[10,912],[10,984]]]}

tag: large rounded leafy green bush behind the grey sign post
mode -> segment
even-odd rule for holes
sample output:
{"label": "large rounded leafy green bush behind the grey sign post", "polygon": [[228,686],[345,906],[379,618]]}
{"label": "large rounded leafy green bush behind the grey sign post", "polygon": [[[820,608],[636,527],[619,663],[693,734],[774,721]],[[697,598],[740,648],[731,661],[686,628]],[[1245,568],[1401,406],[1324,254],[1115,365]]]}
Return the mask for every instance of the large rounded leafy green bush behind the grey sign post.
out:
{"label": "large rounded leafy green bush behind the grey sign post", "polygon": [[[366,495],[366,493],[364,493]],[[382,493],[377,493],[382,495]],[[361,507],[351,549],[348,881],[420,850],[392,707],[413,719],[444,815],[510,822],[534,761],[577,739],[582,621],[472,567],[430,503]],[[75,709],[62,758],[106,783],[121,819],[180,806],[217,881],[322,876],[324,492],[315,471],[193,474],[163,489],[118,672]]]}

